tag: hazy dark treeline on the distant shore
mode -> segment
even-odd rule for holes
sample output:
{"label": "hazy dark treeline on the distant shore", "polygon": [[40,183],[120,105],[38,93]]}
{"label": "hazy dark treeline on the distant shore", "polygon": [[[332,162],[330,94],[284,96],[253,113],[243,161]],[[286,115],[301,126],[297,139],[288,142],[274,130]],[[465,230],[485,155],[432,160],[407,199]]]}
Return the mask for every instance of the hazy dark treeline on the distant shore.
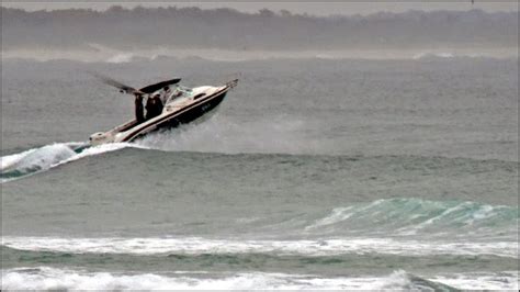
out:
{"label": "hazy dark treeline on the distant shore", "polygon": [[27,12],[2,8],[2,49],[179,47],[341,49],[517,46],[518,12],[408,11],[313,16],[290,11],[112,7]]}

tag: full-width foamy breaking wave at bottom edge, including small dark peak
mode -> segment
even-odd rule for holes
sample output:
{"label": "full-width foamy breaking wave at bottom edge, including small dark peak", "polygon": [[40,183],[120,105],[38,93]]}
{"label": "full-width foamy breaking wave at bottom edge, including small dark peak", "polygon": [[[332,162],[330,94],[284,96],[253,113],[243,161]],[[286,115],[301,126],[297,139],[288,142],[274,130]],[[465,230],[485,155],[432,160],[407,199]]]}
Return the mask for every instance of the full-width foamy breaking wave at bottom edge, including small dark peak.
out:
{"label": "full-width foamy breaking wave at bottom edge, including small dark peak", "polygon": [[337,278],[269,272],[223,272],[216,277],[201,277],[204,274],[204,271],[178,271],[169,274],[122,274],[116,272],[89,272],[49,267],[19,268],[2,270],[2,290],[391,289],[453,291],[456,289],[518,289],[518,274],[516,274],[516,272],[502,272],[499,274],[457,274],[453,278],[438,277],[433,279],[425,279],[403,270],[382,277]]}

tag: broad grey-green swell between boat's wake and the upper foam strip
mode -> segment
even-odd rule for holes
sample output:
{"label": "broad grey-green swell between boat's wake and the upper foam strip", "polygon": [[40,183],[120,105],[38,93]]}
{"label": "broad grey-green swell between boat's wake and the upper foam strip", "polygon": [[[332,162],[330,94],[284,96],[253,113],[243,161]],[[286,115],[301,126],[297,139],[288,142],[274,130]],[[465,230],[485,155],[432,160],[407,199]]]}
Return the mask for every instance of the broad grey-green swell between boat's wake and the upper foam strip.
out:
{"label": "broad grey-green swell between boat's wake and the upper foam strip", "polygon": [[2,184],[3,232],[517,240],[517,162],[137,147],[67,147],[70,162]]}

